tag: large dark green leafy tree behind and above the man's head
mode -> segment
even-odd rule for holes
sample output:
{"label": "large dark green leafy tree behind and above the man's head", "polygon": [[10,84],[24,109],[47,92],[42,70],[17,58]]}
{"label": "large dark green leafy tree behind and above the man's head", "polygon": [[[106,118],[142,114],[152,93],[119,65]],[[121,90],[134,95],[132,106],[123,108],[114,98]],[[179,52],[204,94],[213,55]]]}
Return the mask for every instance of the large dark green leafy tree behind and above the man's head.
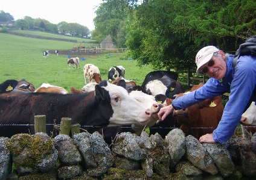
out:
{"label": "large dark green leafy tree behind and above the man's head", "polygon": [[195,67],[205,45],[235,51],[255,34],[253,1],[144,1],[126,23],[129,54],[155,69]]}

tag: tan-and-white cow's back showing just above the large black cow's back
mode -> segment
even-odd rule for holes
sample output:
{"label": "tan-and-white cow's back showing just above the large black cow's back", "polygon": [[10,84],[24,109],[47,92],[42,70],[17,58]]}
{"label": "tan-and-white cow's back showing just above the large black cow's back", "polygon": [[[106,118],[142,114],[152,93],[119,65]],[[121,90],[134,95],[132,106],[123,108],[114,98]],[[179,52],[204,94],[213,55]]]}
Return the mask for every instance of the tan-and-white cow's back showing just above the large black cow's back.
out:
{"label": "tan-and-white cow's back showing just above the large black cow's back", "polygon": [[59,94],[62,94],[62,95],[68,94],[68,91],[66,91],[65,88],[59,87],[59,86],[56,86],[56,85],[51,85],[51,84],[48,84],[48,83],[43,83],[34,92],[35,93],[59,93]]}

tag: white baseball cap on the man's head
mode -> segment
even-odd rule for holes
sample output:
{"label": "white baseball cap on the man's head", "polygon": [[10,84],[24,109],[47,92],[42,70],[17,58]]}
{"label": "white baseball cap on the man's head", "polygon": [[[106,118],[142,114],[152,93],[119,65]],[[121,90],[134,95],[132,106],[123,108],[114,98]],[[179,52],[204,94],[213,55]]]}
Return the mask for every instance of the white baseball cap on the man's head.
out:
{"label": "white baseball cap on the man's head", "polygon": [[215,46],[205,46],[204,48],[200,49],[200,51],[196,54],[196,75],[199,75],[200,67],[203,64],[207,63],[213,57],[214,52],[218,52],[219,49]]}

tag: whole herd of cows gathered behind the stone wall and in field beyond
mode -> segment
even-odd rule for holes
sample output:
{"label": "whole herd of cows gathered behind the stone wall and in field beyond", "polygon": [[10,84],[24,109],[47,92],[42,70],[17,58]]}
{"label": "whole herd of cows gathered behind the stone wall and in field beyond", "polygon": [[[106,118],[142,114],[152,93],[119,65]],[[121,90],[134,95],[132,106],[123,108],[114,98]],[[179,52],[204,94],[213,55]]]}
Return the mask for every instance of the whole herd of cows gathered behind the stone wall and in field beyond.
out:
{"label": "whole herd of cows gathered behind the stone wall and in field beyond", "polygon": [[[77,63],[69,63],[71,60]],[[70,58],[67,62],[80,67],[79,58]],[[174,110],[165,120],[159,121],[160,108],[184,95],[176,72],[150,72],[141,85],[124,78],[123,66],[111,67],[107,81],[101,79],[100,70],[94,64],[86,64],[83,74],[85,86],[81,89],[71,87],[72,93],[45,83],[36,89],[25,79],[2,82],[0,137],[34,134],[34,116],[45,115],[46,124],[51,125],[51,128],[47,126],[46,133],[51,136],[59,133],[54,124],[59,125],[62,117],[70,117],[72,123],[79,123],[83,130],[99,131],[108,144],[121,132],[140,135],[146,127],[150,127],[150,134],[158,132],[162,138],[172,128],[181,128],[186,135],[199,139],[213,132],[222,117],[221,96],[217,96],[184,110]],[[202,85],[194,85],[190,92]],[[246,127],[256,125],[255,110],[254,101],[241,118],[244,137],[256,131],[254,127]]]}

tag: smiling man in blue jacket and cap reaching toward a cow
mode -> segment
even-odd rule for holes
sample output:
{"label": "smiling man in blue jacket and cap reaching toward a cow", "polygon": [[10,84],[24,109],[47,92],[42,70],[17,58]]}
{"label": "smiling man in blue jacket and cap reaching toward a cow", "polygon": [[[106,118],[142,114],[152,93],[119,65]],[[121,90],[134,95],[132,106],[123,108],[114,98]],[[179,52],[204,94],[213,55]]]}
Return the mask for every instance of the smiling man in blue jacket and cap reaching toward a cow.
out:
{"label": "smiling man in blue jacket and cap reaching toward a cow", "polygon": [[190,107],[205,99],[222,95],[228,90],[229,101],[223,111],[222,119],[213,134],[199,138],[200,143],[225,143],[234,134],[243,112],[248,108],[254,96],[256,85],[256,57],[243,55],[232,67],[234,56],[229,56],[215,46],[206,46],[196,55],[197,75],[202,72],[210,79],[199,89],[173,100],[172,104],[161,108],[160,120],[173,110]]}

